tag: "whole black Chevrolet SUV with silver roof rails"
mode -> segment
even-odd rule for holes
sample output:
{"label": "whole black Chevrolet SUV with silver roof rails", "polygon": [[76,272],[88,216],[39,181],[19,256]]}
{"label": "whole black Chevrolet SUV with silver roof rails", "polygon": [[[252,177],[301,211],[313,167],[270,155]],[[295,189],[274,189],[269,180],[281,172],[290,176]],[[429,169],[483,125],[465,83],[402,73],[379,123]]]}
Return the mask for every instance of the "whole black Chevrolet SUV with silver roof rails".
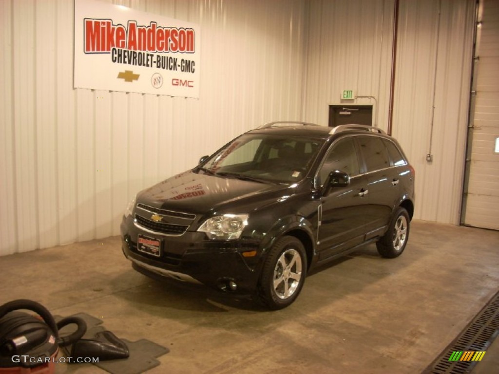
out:
{"label": "whole black Chevrolet SUV with silver roof rails", "polygon": [[280,309],[325,261],[372,242],[400,255],[413,212],[414,169],[382,130],[272,122],[139,192],[121,233],[146,275]]}

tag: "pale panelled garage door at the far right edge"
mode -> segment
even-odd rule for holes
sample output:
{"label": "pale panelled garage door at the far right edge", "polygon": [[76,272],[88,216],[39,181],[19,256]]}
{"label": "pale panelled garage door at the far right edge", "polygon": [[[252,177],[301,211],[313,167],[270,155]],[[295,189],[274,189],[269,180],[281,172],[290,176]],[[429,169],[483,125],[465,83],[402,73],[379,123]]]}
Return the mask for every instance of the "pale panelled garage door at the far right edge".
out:
{"label": "pale panelled garage door at the far right edge", "polygon": [[499,1],[480,6],[463,223],[499,230]]}

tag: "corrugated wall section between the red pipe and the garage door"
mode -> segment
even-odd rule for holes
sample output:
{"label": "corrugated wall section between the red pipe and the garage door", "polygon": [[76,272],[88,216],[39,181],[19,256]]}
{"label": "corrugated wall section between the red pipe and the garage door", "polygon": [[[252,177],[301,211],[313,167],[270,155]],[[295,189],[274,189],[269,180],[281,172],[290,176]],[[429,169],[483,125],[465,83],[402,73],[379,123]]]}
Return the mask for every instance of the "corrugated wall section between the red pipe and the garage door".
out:
{"label": "corrugated wall section between the red pipe and the garage door", "polygon": [[415,216],[459,224],[475,1],[400,4],[393,136],[416,169]]}

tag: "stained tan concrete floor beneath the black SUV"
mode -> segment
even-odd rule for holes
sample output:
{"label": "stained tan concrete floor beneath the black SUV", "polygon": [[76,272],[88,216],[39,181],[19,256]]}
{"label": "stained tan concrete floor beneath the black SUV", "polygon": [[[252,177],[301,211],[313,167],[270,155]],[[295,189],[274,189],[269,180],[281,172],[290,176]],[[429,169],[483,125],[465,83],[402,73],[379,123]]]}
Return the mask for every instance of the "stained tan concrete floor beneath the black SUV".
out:
{"label": "stained tan concrete floor beneath the black SUV", "polygon": [[120,338],[169,348],[151,374],[421,373],[498,291],[499,232],[414,221],[401,257],[366,246],[307,277],[277,312],[151,280],[119,237],[1,257],[0,282],[1,304],[85,312]]}

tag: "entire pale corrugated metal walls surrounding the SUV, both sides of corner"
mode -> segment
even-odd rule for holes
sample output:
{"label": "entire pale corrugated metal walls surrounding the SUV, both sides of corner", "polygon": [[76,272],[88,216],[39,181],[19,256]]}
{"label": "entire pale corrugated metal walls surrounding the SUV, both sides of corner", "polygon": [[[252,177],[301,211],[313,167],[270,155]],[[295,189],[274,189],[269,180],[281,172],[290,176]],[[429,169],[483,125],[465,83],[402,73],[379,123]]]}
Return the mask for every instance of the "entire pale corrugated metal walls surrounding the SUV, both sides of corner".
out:
{"label": "entire pale corrugated metal walls surrounding the SUV, both sides of corner", "polygon": [[[394,0],[115,3],[201,24],[200,99],[73,90],[73,2],[0,1],[0,254],[118,234],[136,191],[263,122],[327,125],[342,89],[387,128]],[[474,1],[439,4],[400,0],[393,135],[416,217],[459,223]]]}

